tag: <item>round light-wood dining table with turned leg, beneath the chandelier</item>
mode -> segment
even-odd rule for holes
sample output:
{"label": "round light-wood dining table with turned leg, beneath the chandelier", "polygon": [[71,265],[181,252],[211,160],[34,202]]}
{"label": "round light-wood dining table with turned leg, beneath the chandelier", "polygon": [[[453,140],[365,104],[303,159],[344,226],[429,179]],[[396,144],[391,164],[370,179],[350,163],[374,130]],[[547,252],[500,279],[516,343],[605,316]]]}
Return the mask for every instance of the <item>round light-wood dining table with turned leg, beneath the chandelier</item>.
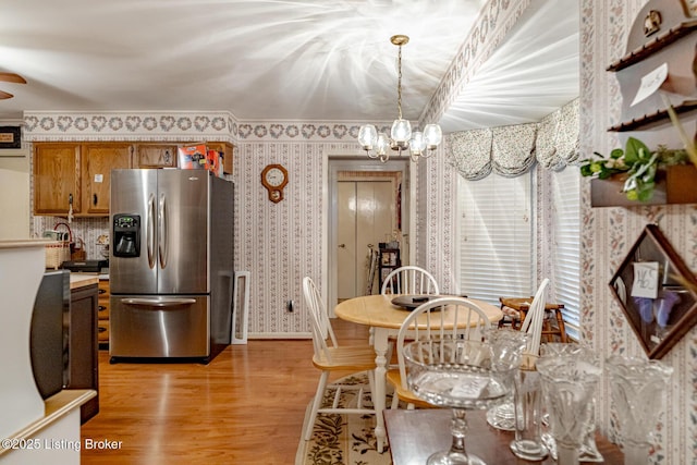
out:
{"label": "round light-wood dining table with turned leg, beneath the chandelier", "polygon": [[[389,338],[396,335],[402,322],[409,315],[408,309],[392,304],[394,297],[398,297],[398,295],[365,295],[343,301],[334,307],[334,315],[338,318],[374,328],[372,345],[376,353],[376,371],[372,402],[377,412],[375,436],[379,452],[382,452],[387,443],[382,411],[386,406]],[[443,297],[449,296],[443,295]],[[474,298],[470,298],[470,301],[484,310],[492,326],[496,326],[503,317],[503,313],[498,306]],[[445,321],[449,321],[448,314],[449,309],[445,308]],[[420,325],[418,320],[417,323]]]}

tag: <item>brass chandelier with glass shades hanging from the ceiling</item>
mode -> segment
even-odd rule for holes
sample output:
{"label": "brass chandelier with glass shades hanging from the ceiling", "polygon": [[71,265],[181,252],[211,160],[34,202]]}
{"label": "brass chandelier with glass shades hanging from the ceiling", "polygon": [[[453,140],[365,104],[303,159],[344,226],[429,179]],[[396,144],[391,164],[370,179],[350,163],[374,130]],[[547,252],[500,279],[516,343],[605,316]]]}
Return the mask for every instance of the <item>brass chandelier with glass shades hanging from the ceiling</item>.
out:
{"label": "brass chandelier with glass shades hanging from the ceiling", "polygon": [[390,150],[402,155],[403,150],[409,150],[412,161],[419,158],[428,158],[436,152],[436,148],[443,138],[443,133],[438,124],[427,124],[424,132],[412,133],[412,124],[402,118],[402,46],[409,41],[407,36],[396,35],[390,37],[390,41],[398,46],[398,82],[396,82],[396,109],[398,119],[392,123],[392,131],[388,137],[384,133],[378,133],[372,124],[364,124],[358,131],[358,143],[368,154],[369,158],[380,158],[383,163],[390,159]]}

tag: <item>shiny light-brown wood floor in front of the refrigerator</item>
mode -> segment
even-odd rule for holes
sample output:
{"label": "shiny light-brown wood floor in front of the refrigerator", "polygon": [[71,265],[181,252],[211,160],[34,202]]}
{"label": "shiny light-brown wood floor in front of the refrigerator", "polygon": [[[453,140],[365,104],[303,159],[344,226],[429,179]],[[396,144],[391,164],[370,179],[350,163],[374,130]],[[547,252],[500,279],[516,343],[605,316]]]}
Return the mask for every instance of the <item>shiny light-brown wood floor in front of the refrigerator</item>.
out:
{"label": "shiny light-brown wood floor in front of the refrigerator", "polygon": [[[340,341],[365,327],[332,320]],[[85,450],[83,464],[293,464],[319,371],[310,340],[248,341],[209,365],[109,364],[99,351],[99,414],[85,439],[121,441]],[[340,376],[340,375],[338,375]]]}

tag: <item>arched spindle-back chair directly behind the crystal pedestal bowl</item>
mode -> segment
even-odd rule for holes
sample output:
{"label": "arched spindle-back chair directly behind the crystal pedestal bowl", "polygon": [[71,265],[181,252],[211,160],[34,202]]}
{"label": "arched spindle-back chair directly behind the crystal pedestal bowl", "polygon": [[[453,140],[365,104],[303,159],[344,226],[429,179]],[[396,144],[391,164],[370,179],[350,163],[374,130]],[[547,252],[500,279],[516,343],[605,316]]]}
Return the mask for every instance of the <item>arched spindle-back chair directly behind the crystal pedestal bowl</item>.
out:
{"label": "arched spindle-back chair directly behind the crystal pedestal bowl", "polygon": [[398,368],[387,372],[387,380],[394,388],[391,408],[398,408],[400,401],[405,402],[409,409],[432,407],[408,389],[403,352],[406,344],[432,339],[482,341],[490,327],[485,311],[464,297],[436,298],[414,309],[396,335]]}

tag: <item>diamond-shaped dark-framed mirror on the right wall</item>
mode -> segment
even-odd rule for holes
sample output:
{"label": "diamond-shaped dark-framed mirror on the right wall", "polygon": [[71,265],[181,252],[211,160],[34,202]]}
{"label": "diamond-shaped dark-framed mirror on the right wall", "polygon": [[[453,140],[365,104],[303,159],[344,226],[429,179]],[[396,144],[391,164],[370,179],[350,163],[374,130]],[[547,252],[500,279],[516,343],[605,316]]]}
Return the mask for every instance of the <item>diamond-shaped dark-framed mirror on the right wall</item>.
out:
{"label": "diamond-shaped dark-framed mirror on the right wall", "polygon": [[697,279],[655,224],[641,232],[610,289],[649,358],[661,358],[697,322]]}

